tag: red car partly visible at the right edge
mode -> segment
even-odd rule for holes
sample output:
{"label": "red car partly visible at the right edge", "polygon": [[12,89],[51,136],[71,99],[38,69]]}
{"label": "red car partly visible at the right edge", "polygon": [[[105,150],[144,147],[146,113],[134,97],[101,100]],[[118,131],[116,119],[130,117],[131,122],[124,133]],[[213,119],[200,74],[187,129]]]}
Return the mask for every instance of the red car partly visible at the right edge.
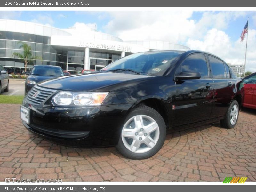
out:
{"label": "red car partly visible at the right edge", "polygon": [[243,107],[256,109],[256,73],[252,73],[242,80],[244,84]]}

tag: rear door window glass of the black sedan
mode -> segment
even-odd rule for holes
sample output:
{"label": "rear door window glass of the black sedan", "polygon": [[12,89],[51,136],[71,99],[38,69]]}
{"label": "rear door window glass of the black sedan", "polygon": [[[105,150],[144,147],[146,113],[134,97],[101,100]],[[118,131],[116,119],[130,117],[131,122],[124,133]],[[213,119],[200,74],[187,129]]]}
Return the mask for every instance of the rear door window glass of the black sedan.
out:
{"label": "rear door window glass of the black sedan", "polygon": [[227,78],[223,61],[209,56],[210,66],[212,68],[212,78]]}

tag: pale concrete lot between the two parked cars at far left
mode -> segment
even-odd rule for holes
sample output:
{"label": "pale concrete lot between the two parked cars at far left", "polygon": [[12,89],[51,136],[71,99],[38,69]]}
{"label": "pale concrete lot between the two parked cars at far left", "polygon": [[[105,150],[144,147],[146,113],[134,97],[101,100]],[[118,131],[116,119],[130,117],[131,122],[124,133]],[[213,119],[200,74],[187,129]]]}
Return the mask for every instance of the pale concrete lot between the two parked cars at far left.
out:
{"label": "pale concrete lot between the two parked cars at far left", "polygon": [[9,79],[9,92],[2,92],[1,95],[24,95],[25,79]]}

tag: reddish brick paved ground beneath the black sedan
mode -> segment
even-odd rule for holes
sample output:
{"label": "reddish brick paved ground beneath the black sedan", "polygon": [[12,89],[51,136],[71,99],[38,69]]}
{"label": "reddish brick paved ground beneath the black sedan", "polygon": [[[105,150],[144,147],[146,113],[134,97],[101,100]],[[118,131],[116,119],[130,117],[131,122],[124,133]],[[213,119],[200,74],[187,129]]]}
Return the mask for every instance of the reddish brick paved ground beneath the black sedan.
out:
{"label": "reddish brick paved ground beneath the black sedan", "polygon": [[42,140],[21,124],[20,105],[0,104],[0,180],[256,181],[255,127],[256,110],[245,109],[235,129],[215,123],[176,132],[152,158],[129,160],[114,147],[78,149]]}

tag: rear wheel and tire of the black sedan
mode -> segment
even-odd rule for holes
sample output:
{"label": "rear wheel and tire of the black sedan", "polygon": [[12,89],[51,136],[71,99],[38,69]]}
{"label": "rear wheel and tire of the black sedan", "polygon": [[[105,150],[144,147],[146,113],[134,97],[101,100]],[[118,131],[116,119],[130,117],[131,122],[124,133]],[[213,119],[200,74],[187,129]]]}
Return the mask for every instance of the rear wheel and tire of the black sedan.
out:
{"label": "rear wheel and tire of the black sedan", "polygon": [[233,100],[228,107],[225,119],[220,120],[220,125],[227,129],[233,129],[236,126],[238,116],[239,104],[236,100]]}

